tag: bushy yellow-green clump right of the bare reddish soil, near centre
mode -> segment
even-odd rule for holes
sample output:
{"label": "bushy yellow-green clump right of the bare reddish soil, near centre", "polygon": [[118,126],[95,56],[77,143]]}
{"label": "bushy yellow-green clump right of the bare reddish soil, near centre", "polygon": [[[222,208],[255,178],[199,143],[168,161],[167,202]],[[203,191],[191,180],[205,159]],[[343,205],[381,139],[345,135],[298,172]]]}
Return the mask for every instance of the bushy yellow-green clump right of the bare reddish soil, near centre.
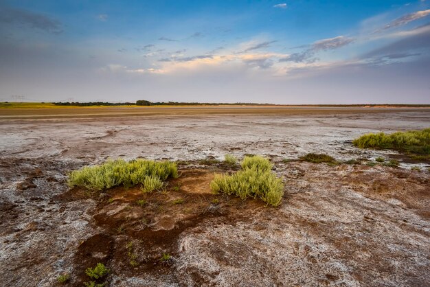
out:
{"label": "bushy yellow-green clump right of the bare reddish soil, near centre", "polygon": [[234,194],[242,199],[260,198],[278,206],[284,195],[284,184],[271,172],[272,164],[263,157],[245,157],[239,172],[231,175],[216,174],[210,183],[212,192]]}

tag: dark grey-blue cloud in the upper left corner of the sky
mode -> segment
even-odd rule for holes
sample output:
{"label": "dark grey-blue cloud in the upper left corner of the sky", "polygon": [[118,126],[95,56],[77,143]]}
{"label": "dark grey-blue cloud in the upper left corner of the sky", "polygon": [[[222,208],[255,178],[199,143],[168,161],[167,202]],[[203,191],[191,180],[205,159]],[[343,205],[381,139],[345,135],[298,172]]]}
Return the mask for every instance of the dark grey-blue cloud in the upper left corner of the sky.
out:
{"label": "dark grey-blue cloud in the upper left corner of the sky", "polygon": [[61,23],[43,14],[21,9],[1,8],[0,23],[23,24],[31,28],[44,30],[49,33],[59,34],[63,32]]}

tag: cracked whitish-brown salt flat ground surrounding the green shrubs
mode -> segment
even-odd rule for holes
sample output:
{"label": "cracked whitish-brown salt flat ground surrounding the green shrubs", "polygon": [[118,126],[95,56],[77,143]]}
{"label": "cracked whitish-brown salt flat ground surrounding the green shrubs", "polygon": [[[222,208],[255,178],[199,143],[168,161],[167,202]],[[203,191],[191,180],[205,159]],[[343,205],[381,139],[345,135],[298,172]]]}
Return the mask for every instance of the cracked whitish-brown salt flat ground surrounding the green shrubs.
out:
{"label": "cracked whitish-brown salt flat ground surrounding the green shrubs", "polygon": [[[55,286],[64,273],[82,286],[98,262],[108,286],[430,286],[428,164],[282,161],[401,160],[351,141],[429,126],[428,108],[2,110],[0,286]],[[275,163],[280,207],[211,194],[213,174],[238,167],[199,160],[227,153]],[[163,193],[67,187],[70,170],[117,157],[188,162]]]}

